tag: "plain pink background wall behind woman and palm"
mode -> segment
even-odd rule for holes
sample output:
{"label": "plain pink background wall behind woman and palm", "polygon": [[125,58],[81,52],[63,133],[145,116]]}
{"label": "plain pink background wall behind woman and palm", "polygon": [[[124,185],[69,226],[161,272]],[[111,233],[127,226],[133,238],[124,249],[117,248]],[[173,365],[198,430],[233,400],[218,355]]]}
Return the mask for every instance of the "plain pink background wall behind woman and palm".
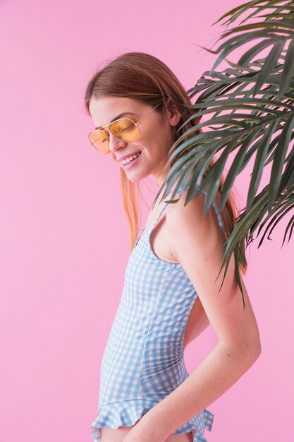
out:
{"label": "plain pink background wall behind woman and palm", "polygon": [[[214,61],[195,44],[209,46],[219,32],[212,23],[241,3],[1,0],[1,441],[92,441],[99,366],[130,249],[118,166],[87,140],[87,81],[105,59],[142,51],[191,88]],[[235,184],[240,207],[250,167]],[[149,203],[157,189],[146,181]],[[147,213],[143,204],[143,222]],[[209,442],[294,441],[285,227],[247,251],[262,354],[208,407]],[[189,372],[214,345],[210,327],[186,350]]]}

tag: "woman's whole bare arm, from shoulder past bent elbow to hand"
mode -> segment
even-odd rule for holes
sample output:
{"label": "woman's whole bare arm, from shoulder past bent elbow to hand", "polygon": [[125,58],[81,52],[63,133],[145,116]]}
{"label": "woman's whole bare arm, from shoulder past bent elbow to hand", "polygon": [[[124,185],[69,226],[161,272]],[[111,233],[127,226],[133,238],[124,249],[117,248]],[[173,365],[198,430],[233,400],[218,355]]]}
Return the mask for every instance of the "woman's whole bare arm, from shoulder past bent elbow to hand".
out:
{"label": "woman's whole bare arm, from shoulder past bent elbow to hand", "polygon": [[[137,431],[141,426],[142,434],[144,429],[147,430],[150,440],[153,437],[154,441],[164,441],[174,430],[223,395],[261,353],[255,315],[242,281],[243,309],[233,258],[220,292],[224,268],[214,282],[221,268],[226,240],[214,208],[203,215],[202,195],[185,206],[184,201],[185,194],[172,205],[166,213],[166,225],[173,238],[173,253],[194,285],[219,342],[180,386],[138,422]],[[151,435],[150,431],[153,432]],[[145,441],[145,438],[142,440]]]}

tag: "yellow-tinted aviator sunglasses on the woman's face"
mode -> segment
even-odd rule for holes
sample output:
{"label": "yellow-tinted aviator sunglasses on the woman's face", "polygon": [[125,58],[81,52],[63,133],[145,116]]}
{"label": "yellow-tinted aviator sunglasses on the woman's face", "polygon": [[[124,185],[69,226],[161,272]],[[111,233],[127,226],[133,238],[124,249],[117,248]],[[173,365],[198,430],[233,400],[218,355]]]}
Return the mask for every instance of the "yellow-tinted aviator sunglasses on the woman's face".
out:
{"label": "yellow-tinted aviator sunglasses on the woman's face", "polygon": [[111,131],[111,133],[116,136],[116,138],[119,138],[122,141],[126,141],[127,143],[132,143],[140,140],[141,132],[138,125],[146,117],[148,117],[148,115],[151,114],[154,109],[159,106],[159,104],[157,104],[157,106],[155,106],[150,112],[148,112],[147,115],[142,117],[140,121],[137,121],[137,123],[130,118],[120,118],[116,121],[112,121],[110,124],[107,124],[107,126],[95,129],[94,131],[89,133],[90,143],[94,146],[95,149],[99,150],[99,152],[109,153],[109,133],[104,130],[106,128],[109,128],[109,131]]}

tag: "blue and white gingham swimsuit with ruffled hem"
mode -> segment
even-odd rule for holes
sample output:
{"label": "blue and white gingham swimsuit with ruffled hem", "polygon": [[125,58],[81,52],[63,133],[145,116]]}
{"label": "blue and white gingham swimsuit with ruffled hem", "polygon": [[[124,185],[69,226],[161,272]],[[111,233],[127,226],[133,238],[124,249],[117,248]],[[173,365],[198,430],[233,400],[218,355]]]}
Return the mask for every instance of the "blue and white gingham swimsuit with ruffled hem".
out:
{"label": "blue and white gingham swimsuit with ruffled hem", "polygon": [[[167,204],[139,241],[142,228],[130,253],[102,357],[99,416],[91,425],[95,442],[101,441],[102,426],[135,424],[189,376],[183,339],[197,292],[182,266],[157,258],[149,241]],[[213,205],[224,229],[218,206]],[[204,429],[211,431],[213,420],[214,414],[202,410],[173,434],[192,431],[193,442],[207,442]]]}

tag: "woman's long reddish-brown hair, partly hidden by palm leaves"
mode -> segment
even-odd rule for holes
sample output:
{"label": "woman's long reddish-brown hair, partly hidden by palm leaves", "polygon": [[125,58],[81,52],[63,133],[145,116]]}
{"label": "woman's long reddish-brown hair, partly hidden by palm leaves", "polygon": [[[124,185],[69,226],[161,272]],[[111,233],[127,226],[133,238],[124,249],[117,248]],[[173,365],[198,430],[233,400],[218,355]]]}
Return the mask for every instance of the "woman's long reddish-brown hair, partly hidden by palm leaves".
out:
{"label": "woman's long reddish-brown hair, partly hidden by palm leaves", "polygon": [[[157,59],[157,57],[144,52],[128,52],[118,56],[94,73],[85,91],[85,108],[88,114],[90,114],[89,104],[91,98],[105,96],[128,97],[145,102],[152,107],[160,102],[159,107],[154,112],[161,113],[166,109],[167,100],[171,98],[182,115],[178,126],[176,126],[174,141],[199,122],[191,119],[182,129],[178,130],[178,127],[182,126],[195,113],[195,109],[186,107],[186,104],[192,103],[185,88],[183,88],[183,85],[171,69],[163,61]],[[214,162],[215,160],[212,159],[204,176],[209,172]],[[223,181],[224,177],[222,176],[219,183],[219,191],[221,191]],[[121,193],[123,208],[130,229],[130,246],[133,249],[140,228],[139,208],[142,195],[140,182],[133,183],[133,181],[130,181],[122,168]],[[238,210],[232,191],[226,201],[226,208],[228,216],[223,216],[222,211],[221,218],[226,230],[226,236],[228,237],[238,217]],[[245,273],[246,267],[243,267],[241,263],[239,267]]]}

